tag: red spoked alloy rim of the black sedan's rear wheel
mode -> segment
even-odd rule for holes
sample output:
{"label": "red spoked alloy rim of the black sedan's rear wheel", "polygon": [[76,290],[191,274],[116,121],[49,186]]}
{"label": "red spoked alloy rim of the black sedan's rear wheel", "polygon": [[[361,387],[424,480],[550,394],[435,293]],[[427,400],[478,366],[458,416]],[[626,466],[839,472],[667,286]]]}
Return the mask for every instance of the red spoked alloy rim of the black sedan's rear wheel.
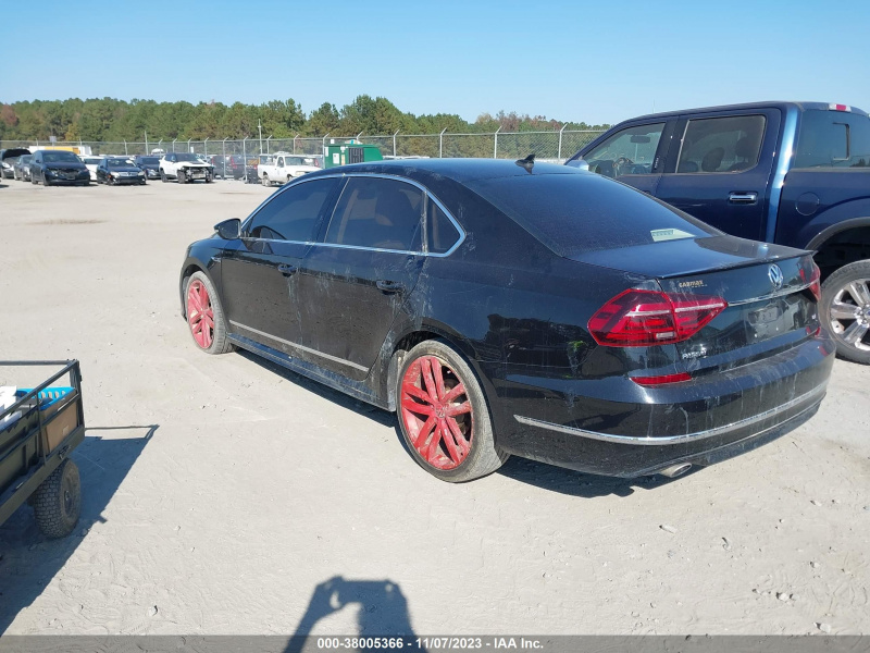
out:
{"label": "red spoked alloy rim of the black sedan's rear wheel", "polygon": [[401,419],[413,447],[436,469],[456,469],[471,452],[474,417],[465,384],[436,356],[421,356],[405,372]]}

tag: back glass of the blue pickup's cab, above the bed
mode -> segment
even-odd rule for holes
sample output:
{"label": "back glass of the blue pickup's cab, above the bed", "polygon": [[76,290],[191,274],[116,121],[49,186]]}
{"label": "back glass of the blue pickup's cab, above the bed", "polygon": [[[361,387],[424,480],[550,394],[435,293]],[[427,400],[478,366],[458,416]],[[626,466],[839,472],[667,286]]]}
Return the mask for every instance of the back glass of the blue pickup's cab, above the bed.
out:
{"label": "back glass of the blue pickup's cab, above the bed", "polygon": [[843,111],[805,111],[794,168],[870,165],[870,118]]}

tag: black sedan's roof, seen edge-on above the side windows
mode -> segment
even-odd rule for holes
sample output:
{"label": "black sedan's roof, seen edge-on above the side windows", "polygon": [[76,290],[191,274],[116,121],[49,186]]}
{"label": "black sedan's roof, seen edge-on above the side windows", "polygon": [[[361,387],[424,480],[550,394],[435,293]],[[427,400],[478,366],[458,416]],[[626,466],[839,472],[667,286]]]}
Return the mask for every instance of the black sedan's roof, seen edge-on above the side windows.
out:
{"label": "black sedan's roof, seen edge-on above the side windows", "polygon": [[400,159],[327,168],[321,172],[311,173],[311,176],[336,173],[350,174],[355,172],[391,174],[410,178],[446,177],[459,183],[529,174],[580,173],[574,168],[555,163],[535,163],[530,171],[526,171],[522,165],[518,165],[513,159]]}

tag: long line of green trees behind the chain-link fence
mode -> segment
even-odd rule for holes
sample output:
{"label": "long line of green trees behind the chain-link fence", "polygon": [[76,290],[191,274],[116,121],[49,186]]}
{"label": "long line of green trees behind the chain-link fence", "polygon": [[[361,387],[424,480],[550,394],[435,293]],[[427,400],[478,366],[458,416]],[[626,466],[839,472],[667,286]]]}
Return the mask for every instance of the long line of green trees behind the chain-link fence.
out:
{"label": "long line of green trees behind the chain-link fence", "polygon": [[363,134],[483,134],[502,132],[549,132],[601,130],[609,125],[562,122],[543,115],[520,115],[499,111],[482,113],[474,122],[457,114],[414,115],[399,110],[386,98],[358,96],[340,109],[324,102],[306,113],[293,99],[262,104],[234,102],[156,102],[154,100],[92,98],[82,100],[0,101],[0,140],[102,140],[140,141],[188,138],[245,138],[258,136],[293,138],[299,136],[355,136]]}

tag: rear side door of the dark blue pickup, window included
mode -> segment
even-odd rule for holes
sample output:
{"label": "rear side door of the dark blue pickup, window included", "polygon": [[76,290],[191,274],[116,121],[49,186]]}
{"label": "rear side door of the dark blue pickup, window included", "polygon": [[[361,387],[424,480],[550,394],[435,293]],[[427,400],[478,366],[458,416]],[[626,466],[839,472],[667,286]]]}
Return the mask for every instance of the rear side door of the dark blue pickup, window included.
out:
{"label": "rear side door of the dark blue pickup, window included", "polygon": [[656,197],[728,234],[765,238],[779,109],[683,115]]}

